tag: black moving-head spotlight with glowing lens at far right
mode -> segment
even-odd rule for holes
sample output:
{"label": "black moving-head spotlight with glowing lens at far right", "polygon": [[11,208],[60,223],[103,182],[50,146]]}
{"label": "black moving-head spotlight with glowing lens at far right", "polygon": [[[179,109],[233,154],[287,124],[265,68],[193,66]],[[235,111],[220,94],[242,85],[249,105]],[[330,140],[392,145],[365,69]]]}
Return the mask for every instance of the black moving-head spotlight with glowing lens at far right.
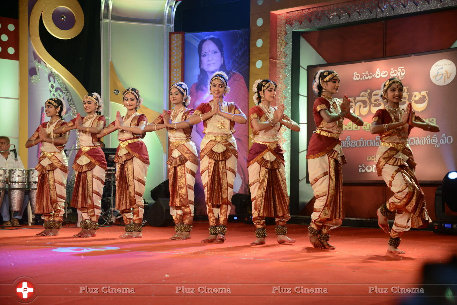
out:
{"label": "black moving-head spotlight with glowing lens at far right", "polygon": [[435,214],[437,221],[433,221],[435,233],[457,234],[457,216],[447,215],[445,203],[453,212],[457,212],[457,172],[452,171],[444,176],[441,186],[435,192]]}

